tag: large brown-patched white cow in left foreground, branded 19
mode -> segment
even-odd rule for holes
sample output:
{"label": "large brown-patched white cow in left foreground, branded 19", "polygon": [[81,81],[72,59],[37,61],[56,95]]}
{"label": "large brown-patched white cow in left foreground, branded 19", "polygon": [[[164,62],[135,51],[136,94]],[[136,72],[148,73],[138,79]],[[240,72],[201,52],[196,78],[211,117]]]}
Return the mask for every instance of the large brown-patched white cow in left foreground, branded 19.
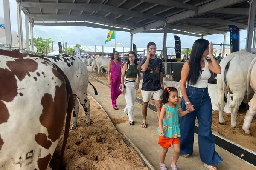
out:
{"label": "large brown-patched white cow in left foreground, branded 19", "polygon": [[67,77],[52,62],[0,50],[0,169],[46,170],[72,111]]}

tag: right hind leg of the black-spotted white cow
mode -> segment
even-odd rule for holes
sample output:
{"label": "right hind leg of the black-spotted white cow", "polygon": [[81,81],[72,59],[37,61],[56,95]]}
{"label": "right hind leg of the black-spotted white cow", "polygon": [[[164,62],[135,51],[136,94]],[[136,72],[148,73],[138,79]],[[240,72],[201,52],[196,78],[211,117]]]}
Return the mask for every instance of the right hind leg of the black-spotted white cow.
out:
{"label": "right hind leg of the black-spotted white cow", "polygon": [[81,95],[77,95],[77,97],[84,108],[86,125],[90,126],[90,100],[88,99],[87,95],[87,92],[85,94],[83,92]]}

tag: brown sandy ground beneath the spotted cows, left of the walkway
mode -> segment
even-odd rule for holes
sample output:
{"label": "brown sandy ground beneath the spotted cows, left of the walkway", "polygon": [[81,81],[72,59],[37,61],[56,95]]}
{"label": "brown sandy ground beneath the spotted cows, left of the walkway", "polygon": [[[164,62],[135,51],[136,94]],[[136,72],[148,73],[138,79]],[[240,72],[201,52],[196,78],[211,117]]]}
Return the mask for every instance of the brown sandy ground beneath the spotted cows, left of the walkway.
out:
{"label": "brown sandy ground beneath the spotted cows, left of the walkway", "polygon": [[[123,141],[106,113],[90,99],[91,126],[86,127],[84,109],[79,107],[78,127],[70,130],[64,155],[66,170],[148,170],[132,147]],[[126,121],[126,120],[125,120]],[[122,120],[113,120],[114,124]],[[52,156],[51,166],[58,169],[64,130]]]}

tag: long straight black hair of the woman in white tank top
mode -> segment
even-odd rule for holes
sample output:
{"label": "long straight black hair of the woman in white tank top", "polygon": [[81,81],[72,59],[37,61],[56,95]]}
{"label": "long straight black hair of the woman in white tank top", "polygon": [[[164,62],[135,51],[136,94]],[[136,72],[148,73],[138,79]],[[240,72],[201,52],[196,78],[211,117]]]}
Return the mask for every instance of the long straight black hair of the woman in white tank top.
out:
{"label": "long straight black hair of the woman in white tank top", "polygon": [[189,59],[189,85],[195,85],[202,73],[201,59],[204,51],[208,48],[209,41],[203,38],[195,40]]}

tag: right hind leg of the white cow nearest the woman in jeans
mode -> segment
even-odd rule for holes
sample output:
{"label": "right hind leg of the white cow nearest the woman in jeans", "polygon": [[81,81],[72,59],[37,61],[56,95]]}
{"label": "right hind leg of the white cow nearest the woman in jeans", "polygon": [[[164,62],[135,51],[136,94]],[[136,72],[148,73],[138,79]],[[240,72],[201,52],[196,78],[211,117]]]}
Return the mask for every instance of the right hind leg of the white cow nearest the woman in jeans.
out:
{"label": "right hind leg of the white cow nearest the woman in jeans", "polygon": [[244,97],[236,96],[236,94],[233,94],[233,100],[230,103],[231,108],[231,127],[236,128],[236,117],[237,117],[237,111],[239,109],[239,106],[241,105]]}

